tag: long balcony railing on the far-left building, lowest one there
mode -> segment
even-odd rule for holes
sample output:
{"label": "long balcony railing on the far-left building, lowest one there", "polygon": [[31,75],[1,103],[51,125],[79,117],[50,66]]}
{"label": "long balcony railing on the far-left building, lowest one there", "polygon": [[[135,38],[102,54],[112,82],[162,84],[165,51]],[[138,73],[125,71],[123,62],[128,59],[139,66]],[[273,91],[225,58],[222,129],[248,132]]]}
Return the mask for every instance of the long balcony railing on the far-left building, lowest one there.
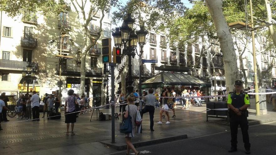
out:
{"label": "long balcony railing on the far-left building, lowest one there", "polygon": [[[3,67],[3,68],[13,68],[13,69],[22,70],[23,68],[26,68],[28,64],[29,62],[27,61],[0,59],[0,67]],[[38,63],[31,62],[30,64],[32,65],[32,68],[34,68],[34,70],[38,70]]]}

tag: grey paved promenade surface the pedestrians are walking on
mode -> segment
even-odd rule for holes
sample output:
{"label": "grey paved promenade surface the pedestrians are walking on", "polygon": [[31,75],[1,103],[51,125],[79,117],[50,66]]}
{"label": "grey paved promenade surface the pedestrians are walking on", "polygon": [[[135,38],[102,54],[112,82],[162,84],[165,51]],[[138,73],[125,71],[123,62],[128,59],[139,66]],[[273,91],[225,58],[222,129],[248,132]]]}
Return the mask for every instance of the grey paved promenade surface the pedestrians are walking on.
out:
{"label": "grey paved promenade surface the pedestrians are walking on", "polygon": [[[176,108],[176,118],[171,118],[171,124],[157,125],[159,121],[159,109],[155,110],[154,115],[154,132],[149,131],[149,115],[143,116],[143,134],[135,136],[133,141],[142,141],[160,138],[168,135],[187,134],[188,137],[197,137],[206,134],[212,134],[229,130],[227,121],[209,118],[206,122],[206,106],[196,107],[192,106],[190,110],[182,110],[182,106],[178,105]],[[270,108],[268,104],[268,108]],[[111,109],[100,109],[101,112],[111,113]],[[250,109],[252,115],[249,116],[251,120],[257,121],[271,121],[275,118],[276,112],[268,110],[268,115],[255,116],[254,109]],[[115,109],[119,112],[119,108]],[[199,113],[189,113],[199,112]],[[63,113],[63,111],[62,111]],[[40,113],[40,117],[42,113]],[[173,113],[170,113],[170,117]],[[8,118],[8,123],[3,122],[3,131],[0,132],[0,154],[105,154],[115,152],[114,149],[104,147],[99,141],[111,139],[111,121],[92,121],[90,122],[91,113],[87,112],[84,115],[79,115],[77,123],[75,123],[74,136],[66,136],[65,118],[62,114],[61,120],[47,120],[40,119],[40,121],[21,121],[21,119]],[[92,120],[96,120],[96,113],[94,112]],[[167,121],[167,117],[163,119]],[[119,132],[120,119],[115,120],[115,141],[124,142],[124,134]],[[71,127],[70,127],[71,129]],[[82,151],[75,152],[72,148]],[[93,151],[89,148],[93,148]],[[61,153],[61,150],[66,150]],[[68,150],[71,150],[68,151]],[[59,153],[58,153],[59,152]]]}

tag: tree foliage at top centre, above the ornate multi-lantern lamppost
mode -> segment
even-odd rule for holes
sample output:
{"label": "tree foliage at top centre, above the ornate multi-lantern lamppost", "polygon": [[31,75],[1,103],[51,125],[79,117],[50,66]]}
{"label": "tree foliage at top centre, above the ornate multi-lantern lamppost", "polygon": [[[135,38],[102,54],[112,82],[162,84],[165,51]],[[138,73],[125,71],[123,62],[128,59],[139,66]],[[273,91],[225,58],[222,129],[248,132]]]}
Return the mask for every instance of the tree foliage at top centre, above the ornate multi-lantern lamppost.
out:
{"label": "tree foliage at top centre, above the ornate multi-lantern lamppost", "polygon": [[181,0],[129,0],[113,13],[112,23],[121,21],[127,13],[138,19],[137,25],[144,25],[148,30],[159,31],[171,23],[176,15],[183,15],[185,7]]}

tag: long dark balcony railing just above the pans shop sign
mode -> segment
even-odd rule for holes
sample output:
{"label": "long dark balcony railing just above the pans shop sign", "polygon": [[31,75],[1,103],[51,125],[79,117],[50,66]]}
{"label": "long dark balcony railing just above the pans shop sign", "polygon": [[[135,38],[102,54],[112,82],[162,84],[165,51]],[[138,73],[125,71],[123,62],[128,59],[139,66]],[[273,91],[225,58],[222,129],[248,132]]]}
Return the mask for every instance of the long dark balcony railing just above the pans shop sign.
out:
{"label": "long dark balcony railing just above the pans shop sign", "polygon": [[[79,66],[74,65],[61,65],[61,73],[66,75],[79,75],[81,68]],[[56,65],[56,74],[59,73],[59,65]],[[103,69],[102,68],[93,68],[93,67],[85,67],[85,74],[86,75],[102,75]]]}

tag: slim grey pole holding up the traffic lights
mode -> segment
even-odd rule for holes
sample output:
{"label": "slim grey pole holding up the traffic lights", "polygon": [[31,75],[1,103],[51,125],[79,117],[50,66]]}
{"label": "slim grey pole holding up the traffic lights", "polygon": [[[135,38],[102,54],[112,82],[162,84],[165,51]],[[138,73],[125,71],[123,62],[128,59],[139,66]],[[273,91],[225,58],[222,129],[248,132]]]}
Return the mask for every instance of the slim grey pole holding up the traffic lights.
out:
{"label": "slim grey pole holding up the traffic lights", "polygon": [[[116,66],[115,63],[109,63],[111,67],[111,102],[114,103],[115,98],[115,84],[114,84],[114,68]],[[115,103],[111,104],[111,143],[115,142]]]}

